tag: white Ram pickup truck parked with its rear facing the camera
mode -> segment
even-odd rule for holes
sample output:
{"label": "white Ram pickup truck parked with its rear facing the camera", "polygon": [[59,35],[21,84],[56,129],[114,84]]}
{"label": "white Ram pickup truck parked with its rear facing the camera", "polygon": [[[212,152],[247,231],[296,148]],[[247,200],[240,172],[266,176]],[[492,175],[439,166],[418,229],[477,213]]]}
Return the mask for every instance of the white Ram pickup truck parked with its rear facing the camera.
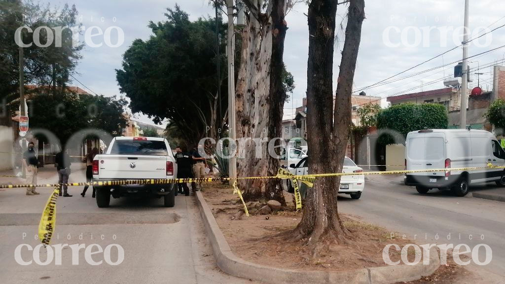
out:
{"label": "white Ram pickup truck parked with its rear facing the camera", "polygon": [[[93,159],[93,181],[129,179],[174,179],[177,167],[172,150],[165,138],[115,137],[107,153]],[[96,204],[108,207],[111,195],[120,198],[130,195],[164,197],[165,206],[175,204],[177,184],[96,185]]]}

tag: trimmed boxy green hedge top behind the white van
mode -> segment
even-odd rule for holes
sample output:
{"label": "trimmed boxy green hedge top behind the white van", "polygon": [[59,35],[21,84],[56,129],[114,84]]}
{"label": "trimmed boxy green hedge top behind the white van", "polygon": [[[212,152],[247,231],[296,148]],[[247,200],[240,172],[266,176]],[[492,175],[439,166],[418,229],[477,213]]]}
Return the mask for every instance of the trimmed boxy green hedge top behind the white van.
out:
{"label": "trimmed boxy green hedge top behind the white van", "polygon": [[[405,138],[411,131],[425,128],[446,129],[447,124],[447,110],[443,105],[412,103],[394,105],[377,115],[380,135],[378,143],[383,145],[405,143]],[[386,133],[387,130],[397,133]]]}

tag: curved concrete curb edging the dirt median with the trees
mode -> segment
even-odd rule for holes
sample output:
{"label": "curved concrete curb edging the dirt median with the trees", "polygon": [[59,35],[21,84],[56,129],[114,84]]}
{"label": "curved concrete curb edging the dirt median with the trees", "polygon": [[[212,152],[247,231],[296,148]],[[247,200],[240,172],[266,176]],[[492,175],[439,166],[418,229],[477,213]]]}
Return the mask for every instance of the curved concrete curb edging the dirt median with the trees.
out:
{"label": "curved concrete curb edging the dirt median with the trees", "polygon": [[216,263],[224,272],[233,276],[275,284],[388,284],[431,275],[440,266],[437,250],[430,250],[429,265],[423,265],[421,261],[417,265],[402,264],[349,271],[300,271],[248,262],[233,254],[201,192],[196,192],[196,201]]}

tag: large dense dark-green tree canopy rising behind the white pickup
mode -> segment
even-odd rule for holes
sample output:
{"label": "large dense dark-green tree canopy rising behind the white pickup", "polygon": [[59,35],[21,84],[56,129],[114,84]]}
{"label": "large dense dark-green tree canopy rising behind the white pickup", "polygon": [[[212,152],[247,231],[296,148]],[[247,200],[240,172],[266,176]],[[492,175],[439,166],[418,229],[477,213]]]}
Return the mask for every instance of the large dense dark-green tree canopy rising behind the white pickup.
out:
{"label": "large dense dark-green tree canopy rising behind the white pickup", "polygon": [[[227,24],[218,19],[218,101],[216,19],[190,21],[177,5],[167,9],[165,16],[165,22],[149,23],[153,34],[148,40],[136,39],[125,52],[123,68],[116,70],[120,90],[131,99],[133,112],[142,112],[158,123],[168,119],[171,129],[177,130],[172,132],[187,144],[206,136],[219,138],[227,129]],[[240,44],[237,37],[237,50]],[[235,65],[239,66],[238,57]],[[292,92],[293,76],[284,70],[283,78],[284,89]]]}

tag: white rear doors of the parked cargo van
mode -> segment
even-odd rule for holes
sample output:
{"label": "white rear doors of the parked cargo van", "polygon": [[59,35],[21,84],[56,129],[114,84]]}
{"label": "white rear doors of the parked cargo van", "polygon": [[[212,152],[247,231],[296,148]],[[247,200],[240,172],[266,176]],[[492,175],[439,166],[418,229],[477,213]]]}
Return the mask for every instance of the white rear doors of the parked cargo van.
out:
{"label": "white rear doors of the parked cargo van", "polygon": [[[407,169],[429,170],[445,167],[445,134],[441,132],[414,133],[407,140]],[[445,172],[419,172],[409,175],[443,176]]]}

